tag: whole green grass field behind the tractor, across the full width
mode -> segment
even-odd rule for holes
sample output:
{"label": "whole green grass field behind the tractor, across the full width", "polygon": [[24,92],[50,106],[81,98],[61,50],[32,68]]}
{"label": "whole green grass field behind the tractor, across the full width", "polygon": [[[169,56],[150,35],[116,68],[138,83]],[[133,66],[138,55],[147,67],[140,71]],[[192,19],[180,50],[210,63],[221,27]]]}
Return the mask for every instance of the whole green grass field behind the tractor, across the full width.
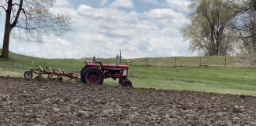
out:
{"label": "whole green grass field behind the tractor, across the full width", "polygon": [[[123,60],[130,65],[130,80],[134,87],[156,88],[179,91],[203,91],[234,95],[256,95],[256,69],[234,67],[235,64],[225,66],[198,67],[199,57],[176,57],[182,60],[182,67],[171,67],[174,57],[150,58],[148,65],[146,58]],[[204,63],[215,62],[215,65],[223,65],[224,57],[202,57]],[[216,59],[216,61],[214,61]],[[227,61],[232,61],[228,57]],[[114,58],[98,59],[107,64],[115,63]],[[177,60],[177,59],[176,59]],[[0,58],[0,76],[23,76],[25,69],[39,68],[39,66],[51,66],[79,73],[83,67],[84,59],[41,59],[26,57],[10,53],[8,60]],[[169,64],[169,65],[168,65]],[[209,65],[209,64],[207,64]],[[118,81],[105,80],[108,85],[118,85]]]}

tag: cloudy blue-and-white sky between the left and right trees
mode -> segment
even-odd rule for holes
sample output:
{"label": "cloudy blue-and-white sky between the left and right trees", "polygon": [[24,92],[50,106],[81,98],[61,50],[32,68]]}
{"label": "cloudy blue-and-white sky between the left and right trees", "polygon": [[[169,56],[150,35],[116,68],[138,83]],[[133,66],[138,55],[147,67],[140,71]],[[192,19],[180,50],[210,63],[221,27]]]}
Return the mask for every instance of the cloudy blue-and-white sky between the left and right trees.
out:
{"label": "cloudy blue-and-white sky between the left and right trees", "polygon": [[[72,31],[43,43],[11,38],[9,50],[44,58],[194,56],[180,29],[190,0],[57,0],[55,14],[71,17]],[[3,24],[0,25],[2,47]]]}

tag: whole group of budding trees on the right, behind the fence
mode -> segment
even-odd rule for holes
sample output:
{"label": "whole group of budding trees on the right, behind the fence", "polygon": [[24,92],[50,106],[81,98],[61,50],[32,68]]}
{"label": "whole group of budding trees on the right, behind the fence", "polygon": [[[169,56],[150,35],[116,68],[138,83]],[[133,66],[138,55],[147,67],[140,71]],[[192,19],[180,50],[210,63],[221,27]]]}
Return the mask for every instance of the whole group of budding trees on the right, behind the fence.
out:
{"label": "whole group of budding trees on the right, behind the fence", "polygon": [[191,0],[183,37],[204,55],[256,53],[256,0]]}

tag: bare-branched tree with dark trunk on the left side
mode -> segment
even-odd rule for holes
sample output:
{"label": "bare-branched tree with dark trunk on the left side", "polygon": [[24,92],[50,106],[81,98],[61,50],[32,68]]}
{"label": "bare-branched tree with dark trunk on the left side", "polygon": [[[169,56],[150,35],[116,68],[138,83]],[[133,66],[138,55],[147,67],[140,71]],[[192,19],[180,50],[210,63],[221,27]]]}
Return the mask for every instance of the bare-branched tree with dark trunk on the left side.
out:
{"label": "bare-branched tree with dark trunk on the left side", "polygon": [[62,35],[70,30],[70,17],[54,15],[50,9],[55,0],[2,0],[0,11],[5,13],[5,31],[1,57],[9,57],[9,39],[13,29],[28,38],[34,38],[38,34],[55,33]]}

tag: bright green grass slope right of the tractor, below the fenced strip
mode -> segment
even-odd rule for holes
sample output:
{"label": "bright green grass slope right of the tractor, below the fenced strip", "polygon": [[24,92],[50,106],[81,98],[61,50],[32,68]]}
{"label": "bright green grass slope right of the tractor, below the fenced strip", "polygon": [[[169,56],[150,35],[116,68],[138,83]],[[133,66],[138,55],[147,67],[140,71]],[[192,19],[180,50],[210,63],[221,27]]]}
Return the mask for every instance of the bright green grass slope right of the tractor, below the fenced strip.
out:
{"label": "bright green grass slope right of the tractor, below the fenced strip", "polygon": [[132,67],[137,87],[256,95],[256,69],[232,67]]}

